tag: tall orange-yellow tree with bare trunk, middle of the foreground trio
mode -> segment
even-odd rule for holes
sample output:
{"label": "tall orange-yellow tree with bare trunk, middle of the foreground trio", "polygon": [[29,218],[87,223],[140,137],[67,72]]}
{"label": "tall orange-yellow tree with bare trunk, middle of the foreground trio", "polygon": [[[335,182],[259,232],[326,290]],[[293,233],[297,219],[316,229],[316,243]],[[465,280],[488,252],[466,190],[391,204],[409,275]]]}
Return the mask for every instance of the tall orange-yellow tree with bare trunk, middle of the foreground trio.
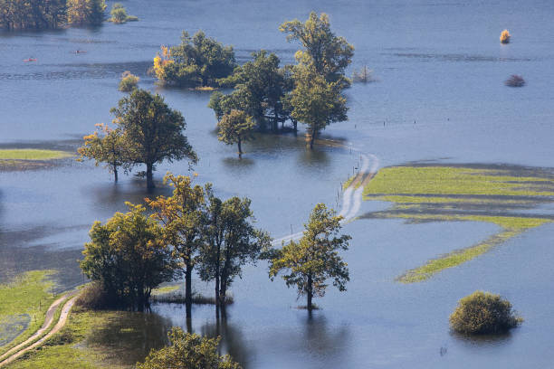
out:
{"label": "tall orange-yellow tree with bare trunk, middle of the foreground trio", "polygon": [[205,189],[192,186],[192,179],[185,175],[167,173],[164,182],[174,187],[170,197],[158,196],[156,200],[146,199],[156,212],[153,216],[163,224],[165,240],[173,246],[173,254],[185,270],[186,312],[190,315],[192,305],[192,272],[195,268],[203,241],[205,222]]}

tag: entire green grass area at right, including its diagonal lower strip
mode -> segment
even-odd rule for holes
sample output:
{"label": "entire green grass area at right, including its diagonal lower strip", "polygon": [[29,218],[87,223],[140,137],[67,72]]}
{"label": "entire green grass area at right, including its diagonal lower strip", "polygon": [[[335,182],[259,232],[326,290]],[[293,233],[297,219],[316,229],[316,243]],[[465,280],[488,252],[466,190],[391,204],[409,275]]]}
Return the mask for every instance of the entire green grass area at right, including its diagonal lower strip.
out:
{"label": "entire green grass area at right, including its diagonal lower strip", "polygon": [[407,270],[396,280],[414,283],[472,260],[522,232],[552,222],[552,215],[513,214],[554,201],[554,178],[529,168],[463,166],[392,166],[381,169],[364,188],[364,199],[389,201],[387,211],[366,217],[399,218],[411,222],[492,222],[501,231],[471,247],[440,255]]}

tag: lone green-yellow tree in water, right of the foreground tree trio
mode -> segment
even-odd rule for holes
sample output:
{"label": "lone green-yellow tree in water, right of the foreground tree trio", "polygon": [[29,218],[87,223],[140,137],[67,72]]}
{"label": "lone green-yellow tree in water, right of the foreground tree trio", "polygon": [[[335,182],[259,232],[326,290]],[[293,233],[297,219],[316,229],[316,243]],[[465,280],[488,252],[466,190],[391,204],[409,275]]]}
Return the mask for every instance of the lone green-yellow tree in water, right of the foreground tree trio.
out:
{"label": "lone green-yellow tree in water, right of the foreground tree trio", "polygon": [[309,311],[313,308],[312,298],[325,295],[328,279],[333,280],[339,291],[346,290],[349,270],[339,251],[348,250],[350,236],[339,236],[341,220],[324,203],[318,203],[310,221],[304,224],[306,230],[301,240],[284,245],[270,261],[270,278],[283,272],[287,287],[296,287],[299,296],[306,295]]}

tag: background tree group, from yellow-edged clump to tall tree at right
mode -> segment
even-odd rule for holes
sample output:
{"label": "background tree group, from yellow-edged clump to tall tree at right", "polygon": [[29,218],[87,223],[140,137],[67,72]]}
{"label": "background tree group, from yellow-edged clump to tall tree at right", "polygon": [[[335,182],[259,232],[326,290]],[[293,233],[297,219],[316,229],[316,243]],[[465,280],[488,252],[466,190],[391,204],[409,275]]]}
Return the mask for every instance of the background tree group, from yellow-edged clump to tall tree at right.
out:
{"label": "background tree group, from yellow-edged clump to tall tree at right", "polygon": [[[277,132],[290,121],[307,126],[310,148],[323,128],[347,119],[346,99],[350,85],[345,70],[354,48],[330,30],[327,14],[311,13],[305,23],[285,22],[280,30],[289,41],[299,41],[296,65],[280,66],[272,52],[253,52],[253,61],[237,66],[231,46],[224,47],[200,31],[194,37],[184,32],[179,46],[162,46],[153,71],[164,84],[180,87],[228,87],[215,91],[208,104],[218,122],[219,136],[227,144],[238,144],[253,130]],[[238,119],[244,112],[248,118]],[[232,116],[232,117],[229,117]],[[253,125],[250,122],[252,119]],[[240,133],[239,133],[240,132]]]}

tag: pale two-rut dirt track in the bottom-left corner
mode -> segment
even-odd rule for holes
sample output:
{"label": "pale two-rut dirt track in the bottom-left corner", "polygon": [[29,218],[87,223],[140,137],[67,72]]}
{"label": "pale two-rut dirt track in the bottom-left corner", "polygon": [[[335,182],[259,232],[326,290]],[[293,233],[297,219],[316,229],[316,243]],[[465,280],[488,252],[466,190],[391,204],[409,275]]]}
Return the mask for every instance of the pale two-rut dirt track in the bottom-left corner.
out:
{"label": "pale two-rut dirt track in the bottom-left corner", "polygon": [[[79,290],[73,290],[72,292],[66,293],[61,298],[58,298],[57,300],[55,300],[53,304],[48,308],[48,311],[46,312],[46,317],[44,318],[43,326],[39,330],[37,330],[33,334],[33,336],[30,336],[21,344],[12,347],[4,355],[1,355],[0,367],[5,366],[6,364],[12,363],[15,359],[17,359],[21,355],[24,355],[24,353],[26,353],[27,351],[30,351],[33,348],[38,347],[39,345],[43,345],[43,343],[48,338],[52,337],[57,332],[59,332],[60,329],[62,329],[62,327],[65,325],[65,322],[67,321],[67,317],[69,316],[69,313],[73,307],[73,304],[75,303],[75,300],[79,297],[78,293],[79,293]],[[55,326],[52,327],[50,331],[48,331],[48,329],[52,326],[53,318],[55,317],[55,313],[58,310],[58,307],[60,307],[62,302],[66,300],[67,302],[63,305],[62,313],[60,314],[60,318],[58,319],[58,322],[56,323]],[[46,331],[48,331],[48,333],[46,333],[43,336],[44,332]],[[38,341],[33,343],[33,341],[37,339]]]}

